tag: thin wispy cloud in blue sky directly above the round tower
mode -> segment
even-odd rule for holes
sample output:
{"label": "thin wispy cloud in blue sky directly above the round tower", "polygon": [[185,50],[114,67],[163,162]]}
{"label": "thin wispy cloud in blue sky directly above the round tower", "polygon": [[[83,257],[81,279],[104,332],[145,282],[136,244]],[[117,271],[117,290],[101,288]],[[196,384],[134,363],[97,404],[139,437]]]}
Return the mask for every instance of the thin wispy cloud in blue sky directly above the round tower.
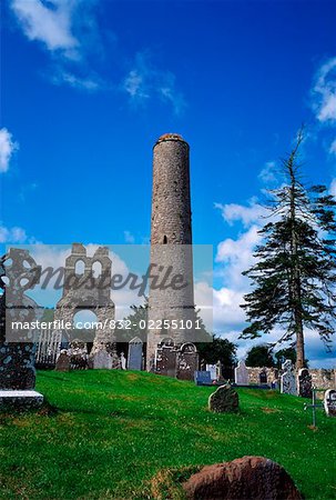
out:
{"label": "thin wispy cloud in blue sky directly above the round tower", "polygon": [[138,52],[133,67],[122,82],[133,104],[143,106],[150,98],[156,98],[173,107],[176,114],[185,108],[183,94],[176,89],[175,76],[171,71],[155,68],[147,52]]}

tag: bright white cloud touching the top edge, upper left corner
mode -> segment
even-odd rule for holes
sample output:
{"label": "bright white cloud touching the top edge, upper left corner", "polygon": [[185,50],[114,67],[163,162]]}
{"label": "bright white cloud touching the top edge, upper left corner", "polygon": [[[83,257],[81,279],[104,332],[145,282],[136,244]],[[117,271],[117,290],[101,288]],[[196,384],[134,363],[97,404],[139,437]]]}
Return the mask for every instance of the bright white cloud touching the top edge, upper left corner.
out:
{"label": "bright white cloud touching the top edge, upper left corner", "polygon": [[70,59],[78,57],[79,40],[72,33],[75,0],[12,0],[11,7],[29,40],[42,42],[50,51],[62,51]]}

